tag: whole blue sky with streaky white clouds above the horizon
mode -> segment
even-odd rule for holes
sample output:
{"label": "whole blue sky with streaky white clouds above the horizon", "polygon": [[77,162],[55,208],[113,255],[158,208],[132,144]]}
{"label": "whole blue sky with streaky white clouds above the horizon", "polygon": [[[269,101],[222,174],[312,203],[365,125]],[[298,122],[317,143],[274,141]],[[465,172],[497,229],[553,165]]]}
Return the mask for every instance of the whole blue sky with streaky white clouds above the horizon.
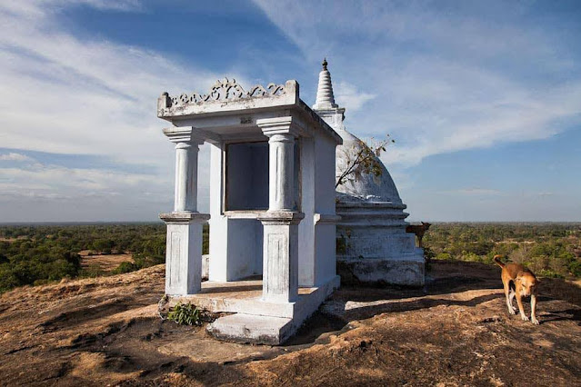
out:
{"label": "whole blue sky with streaky white clouds above the horizon", "polygon": [[[321,59],[412,221],[581,221],[581,4],[29,0],[0,5],[0,223],[171,210],[156,97]],[[207,208],[207,148],[200,155]]]}

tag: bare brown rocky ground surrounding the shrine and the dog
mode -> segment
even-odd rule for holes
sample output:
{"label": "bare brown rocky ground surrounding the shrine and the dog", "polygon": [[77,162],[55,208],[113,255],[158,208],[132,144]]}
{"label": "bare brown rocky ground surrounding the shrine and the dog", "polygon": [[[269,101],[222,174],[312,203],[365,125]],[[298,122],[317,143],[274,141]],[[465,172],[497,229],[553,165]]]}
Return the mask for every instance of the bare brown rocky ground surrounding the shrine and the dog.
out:
{"label": "bare brown rocky ground surrounding the shrine and the dog", "polygon": [[[540,326],[499,269],[435,262],[426,289],[342,288],[285,346],[161,321],[164,266],[0,297],[2,385],[581,385],[581,289],[544,279]],[[523,377],[522,375],[526,375]]]}

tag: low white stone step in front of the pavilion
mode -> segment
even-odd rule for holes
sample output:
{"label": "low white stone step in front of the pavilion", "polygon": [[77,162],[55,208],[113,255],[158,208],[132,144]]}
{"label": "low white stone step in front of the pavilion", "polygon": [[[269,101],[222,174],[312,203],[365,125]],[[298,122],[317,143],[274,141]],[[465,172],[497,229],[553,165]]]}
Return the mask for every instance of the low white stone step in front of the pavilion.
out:
{"label": "low white stone step in front of the pavilion", "polygon": [[295,331],[292,319],[235,313],[220,317],[207,327],[215,338],[227,342],[280,345]]}

